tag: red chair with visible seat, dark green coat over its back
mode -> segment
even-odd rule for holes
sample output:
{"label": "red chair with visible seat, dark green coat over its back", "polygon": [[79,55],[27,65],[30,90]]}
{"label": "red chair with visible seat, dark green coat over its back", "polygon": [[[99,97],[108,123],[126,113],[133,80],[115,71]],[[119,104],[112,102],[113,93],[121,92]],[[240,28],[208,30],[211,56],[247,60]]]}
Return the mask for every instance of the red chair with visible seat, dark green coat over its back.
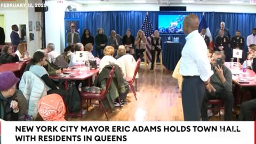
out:
{"label": "red chair with visible seat, dark green coat over its back", "polygon": [[[107,79],[107,82],[106,82],[106,90],[102,90],[100,94],[95,94],[95,93],[89,93],[89,92],[82,92],[81,93],[81,97],[82,97],[82,101],[86,101],[87,104],[91,104],[91,100],[98,100],[99,103],[92,103],[94,105],[99,105],[100,109],[102,108],[107,119],[108,119],[108,115],[107,115],[107,112],[106,112],[106,109],[105,107],[103,106],[103,103],[102,103],[102,100],[106,100],[107,103],[108,103],[108,107],[112,113],[112,109],[110,107],[110,104],[109,104],[109,101],[106,97],[106,94],[108,93],[109,91],[109,87],[110,87],[110,84],[111,84],[111,81],[112,81],[112,78],[113,78],[113,75],[114,75],[114,72],[115,72],[115,67],[113,66],[113,68],[111,69],[110,73],[109,73],[109,76],[108,76],[108,79]],[[89,102],[90,100],[90,102]],[[83,104],[83,102],[82,102]],[[88,110],[88,107],[87,107],[87,110]],[[109,120],[109,119],[108,119]]]}

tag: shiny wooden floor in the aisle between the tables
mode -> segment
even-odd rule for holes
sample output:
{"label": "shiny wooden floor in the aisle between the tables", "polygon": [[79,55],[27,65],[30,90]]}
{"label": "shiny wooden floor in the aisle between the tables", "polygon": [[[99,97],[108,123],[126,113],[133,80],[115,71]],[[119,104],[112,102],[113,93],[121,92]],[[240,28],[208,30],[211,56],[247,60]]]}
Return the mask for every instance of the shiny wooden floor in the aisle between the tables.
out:
{"label": "shiny wooden floor in the aisle between the tables", "polygon": [[[135,84],[134,84],[135,85]],[[127,95],[128,104],[122,109],[108,111],[109,121],[183,121],[182,103],[177,80],[167,69],[145,69],[140,66],[137,80],[137,101],[132,92]],[[211,117],[220,121],[219,117]],[[68,121],[107,121],[98,106],[91,106],[82,117],[69,117]]]}

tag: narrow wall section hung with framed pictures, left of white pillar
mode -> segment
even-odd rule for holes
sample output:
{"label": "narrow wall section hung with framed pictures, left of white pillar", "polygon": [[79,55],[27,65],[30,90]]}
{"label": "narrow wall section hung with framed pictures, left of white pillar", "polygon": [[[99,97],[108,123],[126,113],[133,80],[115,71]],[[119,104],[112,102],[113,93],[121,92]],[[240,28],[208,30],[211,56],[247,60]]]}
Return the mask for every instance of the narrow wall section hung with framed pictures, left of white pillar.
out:
{"label": "narrow wall section hung with framed pictures, left of white pillar", "polygon": [[[29,4],[35,5],[35,3],[42,3],[42,0],[28,0]],[[36,31],[36,21],[41,22],[41,12],[35,12],[34,7],[27,7],[28,11],[28,20],[27,20],[27,47],[28,47],[28,52],[33,55],[33,53],[42,48],[42,40],[41,40],[41,35],[42,35],[42,29],[40,31]],[[29,31],[28,27],[28,21],[32,21],[33,23],[33,31]],[[34,34],[34,40],[30,41],[29,39],[29,33]]]}

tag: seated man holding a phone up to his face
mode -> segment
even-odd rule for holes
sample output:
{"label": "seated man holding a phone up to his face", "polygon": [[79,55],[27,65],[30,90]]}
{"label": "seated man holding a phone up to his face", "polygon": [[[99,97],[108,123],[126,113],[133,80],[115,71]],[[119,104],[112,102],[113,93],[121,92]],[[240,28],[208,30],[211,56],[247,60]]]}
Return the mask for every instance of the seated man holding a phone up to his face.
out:
{"label": "seated man holding a phone up to his face", "polygon": [[221,99],[225,106],[224,120],[230,121],[234,103],[232,93],[232,74],[225,65],[217,65],[217,59],[221,58],[222,63],[225,62],[226,56],[222,52],[215,52],[212,59],[212,70],[214,74],[211,76],[210,83],[214,87],[215,92],[209,93],[205,91],[204,100],[201,107],[202,121],[208,121],[207,101],[211,99]]}

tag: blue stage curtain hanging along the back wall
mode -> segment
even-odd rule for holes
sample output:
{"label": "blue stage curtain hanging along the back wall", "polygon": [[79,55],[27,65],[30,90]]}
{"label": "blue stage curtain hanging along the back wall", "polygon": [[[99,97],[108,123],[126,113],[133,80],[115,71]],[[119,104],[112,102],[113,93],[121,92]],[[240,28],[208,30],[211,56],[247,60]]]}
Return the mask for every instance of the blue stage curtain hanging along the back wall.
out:
{"label": "blue stage curtain hanging along the back wall", "polygon": [[[170,12],[170,11],[150,11],[148,17],[154,29],[157,28],[158,14],[190,14],[194,13],[201,20],[203,12]],[[252,33],[252,29],[256,23],[255,13],[223,13],[223,12],[205,12],[205,19],[209,26],[213,41],[215,39],[215,30],[220,27],[220,22],[225,21],[226,28],[229,29],[230,35],[234,36],[236,30],[241,30],[242,36],[246,38]],[[126,29],[131,30],[131,34],[136,37],[137,31],[140,29],[143,20],[145,19],[146,11],[106,11],[106,12],[65,12],[65,18],[81,18],[82,31],[88,28],[93,37],[97,35],[97,29],[103,28],[107,37],[110,36],[111,30],[115,30],[117,34],[124,36]],[[163,42],[167,40],[169,35],[161,35]],[[175,35],[170,35],[174,37]],[[179,36],[179,41],[182,45],[186,42],[186,35]],[[245,45],[245,50],[247,46]],[[96,54],[95,50],[93,54]]]}

